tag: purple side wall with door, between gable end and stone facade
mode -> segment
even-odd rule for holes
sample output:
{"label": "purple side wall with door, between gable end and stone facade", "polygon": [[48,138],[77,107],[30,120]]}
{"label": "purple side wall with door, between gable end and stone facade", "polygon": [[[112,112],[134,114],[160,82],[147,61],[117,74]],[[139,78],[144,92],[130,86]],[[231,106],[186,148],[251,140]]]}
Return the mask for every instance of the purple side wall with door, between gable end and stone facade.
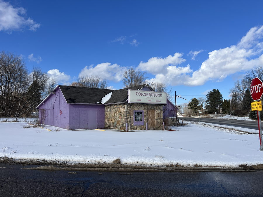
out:
{"label": "purple side wall with door, between gable end and stone facade", "polygon": [[[70,104],[69,129],[96,129],[105,127],[104,105]],[[96,121],[95,125],[94,122]]]}

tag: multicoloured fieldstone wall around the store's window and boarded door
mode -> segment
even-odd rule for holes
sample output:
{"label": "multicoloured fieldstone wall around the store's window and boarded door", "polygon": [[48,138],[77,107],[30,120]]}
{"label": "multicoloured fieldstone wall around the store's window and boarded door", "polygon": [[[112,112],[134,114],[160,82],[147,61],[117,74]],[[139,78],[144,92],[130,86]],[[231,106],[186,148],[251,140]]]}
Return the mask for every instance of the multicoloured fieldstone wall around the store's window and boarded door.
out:
{"label": "multicoloured fieldstone wall around the store's window and boarded door", "polygon": [[[146,130],[146,122],[148,123],[150,118],[148,110],[152,109],[155,110],[155,117],[151,120],[155,122],[153,129],[162,129],[163,105],[140,103],[105,105],[105,128],[126,131],[126,123],[128,123],[128,130]],[[134,125],[134,110],[143,111],[143,125]],[[150,128],[149,123],[148,128]]]}

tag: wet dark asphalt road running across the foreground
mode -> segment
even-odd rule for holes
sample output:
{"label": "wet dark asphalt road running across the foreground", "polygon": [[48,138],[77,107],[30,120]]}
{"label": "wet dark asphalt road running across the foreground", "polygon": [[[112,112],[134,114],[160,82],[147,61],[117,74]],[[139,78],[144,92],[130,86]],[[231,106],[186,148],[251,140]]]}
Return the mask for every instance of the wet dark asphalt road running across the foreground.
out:
{"label": "wet dark asphalt road running across the foreground", "polygon": [[23,167],[0,163],[0,196],[262,196],[263,193],[263,171],[99,172]]}

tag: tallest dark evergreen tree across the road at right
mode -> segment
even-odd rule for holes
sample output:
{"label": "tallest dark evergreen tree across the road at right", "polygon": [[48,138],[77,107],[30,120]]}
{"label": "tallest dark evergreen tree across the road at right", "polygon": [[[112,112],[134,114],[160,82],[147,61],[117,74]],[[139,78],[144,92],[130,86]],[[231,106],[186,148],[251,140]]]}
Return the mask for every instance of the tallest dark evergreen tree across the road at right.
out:
{"label": "tallest dark evergreen tree across the road at right", "polygon": [[213,89],[206,95],[206,98],[206,109],[208,113],[213,114],[214,112],[217,112],[219,114],[223,102],[222,94],[219,92],[219,90]]}

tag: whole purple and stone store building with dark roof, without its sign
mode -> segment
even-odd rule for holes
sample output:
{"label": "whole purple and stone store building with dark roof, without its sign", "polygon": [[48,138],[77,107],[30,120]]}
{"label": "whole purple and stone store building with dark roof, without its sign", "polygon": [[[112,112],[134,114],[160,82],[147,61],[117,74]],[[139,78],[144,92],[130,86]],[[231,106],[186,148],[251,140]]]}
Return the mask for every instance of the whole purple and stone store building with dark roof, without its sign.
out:
{"label": "whole purple and stone store building with dark roof, without its sign", "polygon": [[149,129],[159,129],[163,118],[175,116],[168,99],[167,104],[129,103],[128,90],[153,92],[148,84],[120,90],[58,85],[37,107],[39,122],[68,130],[126,130],[128,123],[129,130],[138,130],[146,129],[146,123]]}

